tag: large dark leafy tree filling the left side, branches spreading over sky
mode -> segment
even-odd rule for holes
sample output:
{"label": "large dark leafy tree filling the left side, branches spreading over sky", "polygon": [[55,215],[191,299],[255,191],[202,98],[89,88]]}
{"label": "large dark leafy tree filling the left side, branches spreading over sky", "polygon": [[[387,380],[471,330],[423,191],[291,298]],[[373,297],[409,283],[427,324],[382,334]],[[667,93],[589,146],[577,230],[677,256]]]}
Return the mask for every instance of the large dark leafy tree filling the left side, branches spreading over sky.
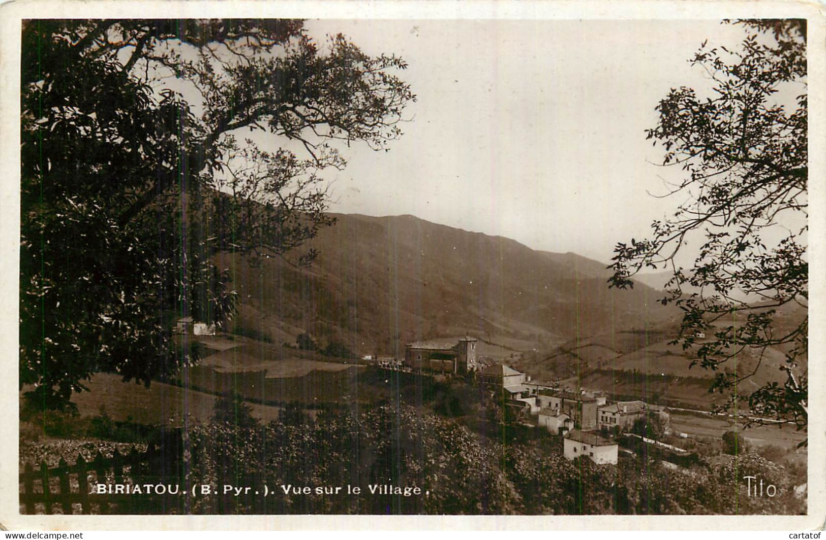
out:
{"label": "large dark leafy tree filling the left side, branches spreading over sky", "polygon": [[323,171],[386,148],[415,99],[403,60],[301,21],[25,21],[21,51],[20,383],[41,406],[192,361],[174,321],[235,307],[212,256],[332,224]]}

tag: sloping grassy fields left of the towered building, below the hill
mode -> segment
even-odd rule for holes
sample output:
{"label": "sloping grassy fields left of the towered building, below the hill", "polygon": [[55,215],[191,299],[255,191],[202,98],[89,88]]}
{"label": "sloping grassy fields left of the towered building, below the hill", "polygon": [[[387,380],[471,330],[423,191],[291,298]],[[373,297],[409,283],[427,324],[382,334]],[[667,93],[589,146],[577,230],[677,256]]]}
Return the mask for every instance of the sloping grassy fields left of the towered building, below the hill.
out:
{"label": "sloping grassy fields left of the towered building, below the hill", "polygon": [[180,373],[174,384],[154,381],[145,387],[124,383],[116,374],[95,374],[86,385],[88,392],[72,398],[80,416],[97,416],[105,409],[116,421],[179,426],[185,419],[209,420],[217,396],[229,391],[244,397],[253,416],[266,423],[277,418],[287,403],[312,408],[387,397],[381,386],[363,378],[363,366],[328,362],[310,351],[240,336],[197,340],[206,347],[206,357],[185,377]]}

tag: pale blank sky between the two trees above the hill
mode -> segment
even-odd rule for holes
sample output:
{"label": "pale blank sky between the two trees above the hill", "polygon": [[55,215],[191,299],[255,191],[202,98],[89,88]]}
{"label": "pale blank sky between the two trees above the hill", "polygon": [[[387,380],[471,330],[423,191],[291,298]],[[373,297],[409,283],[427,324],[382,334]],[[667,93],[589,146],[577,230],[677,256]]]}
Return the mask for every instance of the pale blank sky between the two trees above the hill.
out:
{"label": "pale blank sky between the two trees above the hill", "polygon": [[[397,54],[418,101],[388,153],[349,148],[331,210],[413,214],[609,261],[679,202],[645,129],[669,88],[708,84],[687,62],[719,21],[307,21],[368,54]],[[675,176],[677,175],[677,176]]]}

